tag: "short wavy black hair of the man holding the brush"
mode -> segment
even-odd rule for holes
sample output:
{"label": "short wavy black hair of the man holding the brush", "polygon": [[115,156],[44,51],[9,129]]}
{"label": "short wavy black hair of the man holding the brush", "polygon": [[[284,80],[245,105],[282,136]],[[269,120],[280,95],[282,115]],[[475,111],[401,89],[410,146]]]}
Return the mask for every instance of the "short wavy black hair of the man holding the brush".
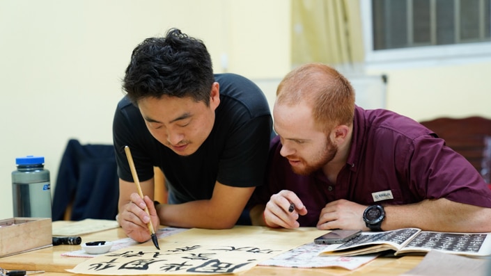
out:
{"label": "short wavy black hair of the man holding the brush", "polygon": [[145,97],[192,97],[210,104],[215,81],[203,41],[170,29],[164,38],[147,38],[134,50],[123,90],[134,104]]}

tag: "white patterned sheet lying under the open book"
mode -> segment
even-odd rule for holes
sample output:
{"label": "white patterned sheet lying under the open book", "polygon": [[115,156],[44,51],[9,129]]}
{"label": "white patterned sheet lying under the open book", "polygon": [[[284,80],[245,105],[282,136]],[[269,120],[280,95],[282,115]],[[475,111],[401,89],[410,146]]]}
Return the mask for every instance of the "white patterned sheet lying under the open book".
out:
{"label": "white patterned sheet lying under the open book", "polygon": [[354,270],[373,261],[379,254],[366,254],[356,257],[319,256],[326,245],[307,243],[293,250],[259,263],[259,266],[281,266],[286,268],[327,268],[339,267]]}

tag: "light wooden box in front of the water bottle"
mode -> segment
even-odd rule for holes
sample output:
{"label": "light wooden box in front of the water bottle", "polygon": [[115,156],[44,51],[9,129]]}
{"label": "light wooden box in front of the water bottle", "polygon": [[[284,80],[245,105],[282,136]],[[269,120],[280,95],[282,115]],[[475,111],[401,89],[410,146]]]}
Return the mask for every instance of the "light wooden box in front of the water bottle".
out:
{"label": "light wooden box in front of the water bottle", "polygon": [[52,245],[51,218],[0,220],[0,258]]}

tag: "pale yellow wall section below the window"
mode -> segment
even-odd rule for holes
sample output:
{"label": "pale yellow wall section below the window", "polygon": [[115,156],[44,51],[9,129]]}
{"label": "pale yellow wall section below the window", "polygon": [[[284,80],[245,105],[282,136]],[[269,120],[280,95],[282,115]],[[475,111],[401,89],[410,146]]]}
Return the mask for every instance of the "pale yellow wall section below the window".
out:
{"label": "pale yellow wall section below the window", "polygon": [[388,75],[387,108],[415,120],[491,118],[490,60],[378,72]]}

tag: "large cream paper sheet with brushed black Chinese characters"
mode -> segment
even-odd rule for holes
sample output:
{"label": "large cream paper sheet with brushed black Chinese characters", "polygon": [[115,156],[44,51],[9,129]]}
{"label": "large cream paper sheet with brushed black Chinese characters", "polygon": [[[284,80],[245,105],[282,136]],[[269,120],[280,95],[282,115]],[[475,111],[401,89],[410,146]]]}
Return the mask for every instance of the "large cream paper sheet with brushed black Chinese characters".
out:
{"label": "large cream paper sheet with brushed black Chinese characters", "polygon": [[314,227],[189,229],[152,243],[88,259],[71,273],[91,275],[190,275],[240,273],[265,259],[310,243],[324,232]]}

